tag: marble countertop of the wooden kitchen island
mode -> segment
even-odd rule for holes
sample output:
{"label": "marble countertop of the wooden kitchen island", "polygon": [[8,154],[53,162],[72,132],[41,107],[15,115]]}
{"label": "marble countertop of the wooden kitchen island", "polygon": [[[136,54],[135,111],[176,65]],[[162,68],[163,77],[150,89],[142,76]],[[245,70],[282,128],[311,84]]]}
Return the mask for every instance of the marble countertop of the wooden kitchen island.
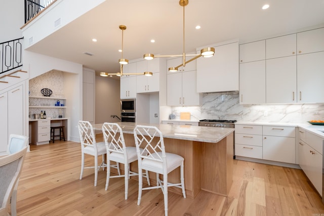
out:
{"label": "marble countertop of the wooden kitchen island", "polygon": [[[202,127],[191,125],[169,125],[169,124],[147,124],[133,122],[117,122],[124,134],[134,134],[136,125],[156,126],[163,134],[164,138],[190,140],[206,143],[218,143],[232,132],[234,128],[224,127]],[[102,124],[94,124],[93,128],[101,131]]]}

